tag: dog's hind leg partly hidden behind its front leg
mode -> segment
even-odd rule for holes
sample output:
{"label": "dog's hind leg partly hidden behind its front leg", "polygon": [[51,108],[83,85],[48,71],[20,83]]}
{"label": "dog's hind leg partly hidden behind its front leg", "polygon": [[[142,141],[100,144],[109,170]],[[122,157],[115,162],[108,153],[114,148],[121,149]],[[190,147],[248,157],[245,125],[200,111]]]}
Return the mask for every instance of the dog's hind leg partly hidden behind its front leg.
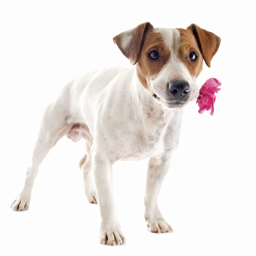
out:
{"label": "dog's hind leg partly hidden behind its front leg", "polygon": [[90,149],[92,147],[93,139],[90,136],[89,130],[86,133],[83,133],[83,138],[85,139],[86,143],[86,154],[79,162],[79,167],[83,172],[84,177],[84,193],[91,204],[97,204],[97,194],[96,189],[93,184],[93,177],[92,177],[92,168],[91,168],[91,154]]}

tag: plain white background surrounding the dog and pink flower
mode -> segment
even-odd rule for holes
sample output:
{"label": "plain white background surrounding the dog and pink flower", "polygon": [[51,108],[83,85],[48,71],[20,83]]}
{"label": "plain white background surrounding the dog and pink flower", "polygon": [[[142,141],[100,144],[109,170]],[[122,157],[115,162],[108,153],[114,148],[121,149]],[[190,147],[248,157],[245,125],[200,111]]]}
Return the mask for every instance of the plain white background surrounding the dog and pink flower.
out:
{"label": "plain white background surrounding the dog and pink flower", "polygon": [[[252,3],[252,1],[250,1]],[[0,255],[256,255],[255,9],[249,1],[1,1]],[[20,192],[44,108],[68,81],[99,67],[129,66],[119,32],[196,23],[221,46],[198,78],[222,82],[215,114],[186,107],[180,145],[158,204],[174,233],[146,227],[147,161],[114,166],[115,200],[127,244],[99,244],[99,206],[84,196],[84,143],[66,137],[41,165],[27,212]]]}

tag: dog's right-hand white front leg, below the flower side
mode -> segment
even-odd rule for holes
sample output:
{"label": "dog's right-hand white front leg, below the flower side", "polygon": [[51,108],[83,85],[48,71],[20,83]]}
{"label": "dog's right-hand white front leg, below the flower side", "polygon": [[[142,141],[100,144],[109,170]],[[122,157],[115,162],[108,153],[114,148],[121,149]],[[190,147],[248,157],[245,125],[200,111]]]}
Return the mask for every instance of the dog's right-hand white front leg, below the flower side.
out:
{"label": "dog's right-hand white front leg, below the flower side", "polygon": [[156,159],[151,157],[148,163],[146,195],[144,199],[145,219],[150,231],[153,233],[172,232],[172,227],[165,221],[157,206],[157,197],[169,166],[170,158]]}

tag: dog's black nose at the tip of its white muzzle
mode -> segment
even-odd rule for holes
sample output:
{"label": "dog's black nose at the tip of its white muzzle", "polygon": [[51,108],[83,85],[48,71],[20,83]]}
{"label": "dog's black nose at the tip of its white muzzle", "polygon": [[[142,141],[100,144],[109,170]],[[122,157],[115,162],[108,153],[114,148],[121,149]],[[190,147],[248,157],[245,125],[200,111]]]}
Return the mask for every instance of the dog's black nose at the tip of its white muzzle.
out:
{"label": "dog's black nose at the tip of its white muzzle", "polygon": [[189,83],[184,80],[175,80],[169,82],[169,91],[171,93],[172,99],[182,99],[188,98],[190,93]]}

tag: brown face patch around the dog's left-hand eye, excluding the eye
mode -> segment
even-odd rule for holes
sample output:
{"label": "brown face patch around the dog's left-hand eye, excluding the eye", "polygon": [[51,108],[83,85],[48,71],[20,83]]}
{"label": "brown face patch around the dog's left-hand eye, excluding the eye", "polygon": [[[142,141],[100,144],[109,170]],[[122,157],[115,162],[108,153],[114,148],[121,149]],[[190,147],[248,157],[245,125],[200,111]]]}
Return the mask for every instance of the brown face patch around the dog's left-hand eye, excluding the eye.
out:
{"label": "brown face patch around the dog's left-hand eye, excluding the eye", "polygon": [[[159,53],[158,59],[154,60],[149,57],[149,53],[152,51]],[[149,78],[156,76],[168,62],[170,53],[162,35],[159,32],[154,32],[154,29],[148,31],[137,62],[137,75],[145,88],[149,88]]]}

